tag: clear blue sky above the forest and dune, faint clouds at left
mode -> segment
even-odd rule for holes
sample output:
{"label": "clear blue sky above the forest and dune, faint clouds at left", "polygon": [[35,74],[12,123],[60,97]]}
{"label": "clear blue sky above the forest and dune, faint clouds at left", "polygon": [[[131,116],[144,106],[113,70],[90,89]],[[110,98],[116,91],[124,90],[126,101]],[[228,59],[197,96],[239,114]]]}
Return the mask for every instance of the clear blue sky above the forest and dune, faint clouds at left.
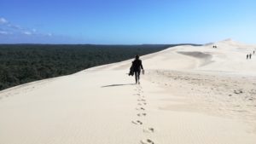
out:
{"label": "clear blue sky above the forest and dune, faint clouds at left", "polygon": [[0,0],[0,43],[256,43],[255,0]]}

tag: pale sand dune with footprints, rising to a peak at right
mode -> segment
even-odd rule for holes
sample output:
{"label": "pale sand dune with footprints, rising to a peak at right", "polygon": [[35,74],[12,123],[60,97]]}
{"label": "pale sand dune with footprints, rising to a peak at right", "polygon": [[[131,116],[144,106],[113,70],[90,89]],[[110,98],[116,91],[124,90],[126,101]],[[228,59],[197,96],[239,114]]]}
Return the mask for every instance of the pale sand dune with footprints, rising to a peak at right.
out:
{"label": "pale sand dune with footprints, rising to a peak at right", "polygon": [[[212,45],[218,48],[212,48]],[[256,55],[225,40],[142,57],[0,92],[2,144],[255,144]]]}

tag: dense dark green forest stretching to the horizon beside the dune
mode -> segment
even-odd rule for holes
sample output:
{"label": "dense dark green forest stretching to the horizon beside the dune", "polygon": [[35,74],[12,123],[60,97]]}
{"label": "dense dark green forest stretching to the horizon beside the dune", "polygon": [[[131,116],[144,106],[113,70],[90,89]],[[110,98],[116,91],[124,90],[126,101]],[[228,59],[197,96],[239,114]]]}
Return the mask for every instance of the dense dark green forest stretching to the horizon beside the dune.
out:
{"label": "dense dark green forest stretching to the horizon beside the dune", "polygon": [[147,55],[174,45],[1,44],[0,90],[92,66]]}

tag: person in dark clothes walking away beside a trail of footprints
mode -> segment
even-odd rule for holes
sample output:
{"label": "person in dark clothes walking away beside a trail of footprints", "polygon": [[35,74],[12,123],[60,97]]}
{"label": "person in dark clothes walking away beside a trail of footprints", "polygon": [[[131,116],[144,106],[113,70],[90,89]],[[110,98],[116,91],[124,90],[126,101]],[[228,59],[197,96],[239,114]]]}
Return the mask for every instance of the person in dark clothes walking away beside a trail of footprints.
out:
{"label": "person in dark clothes walking away beside a trail of footprints", "polygon": [[[135,60],[132,61],[131,71],[135,74],[136,84],[140,84],[140,74],[143,69],[143,62],[139,59],[139,55],[136,55]],[[144,69],[143,69],[144,72]]]}

